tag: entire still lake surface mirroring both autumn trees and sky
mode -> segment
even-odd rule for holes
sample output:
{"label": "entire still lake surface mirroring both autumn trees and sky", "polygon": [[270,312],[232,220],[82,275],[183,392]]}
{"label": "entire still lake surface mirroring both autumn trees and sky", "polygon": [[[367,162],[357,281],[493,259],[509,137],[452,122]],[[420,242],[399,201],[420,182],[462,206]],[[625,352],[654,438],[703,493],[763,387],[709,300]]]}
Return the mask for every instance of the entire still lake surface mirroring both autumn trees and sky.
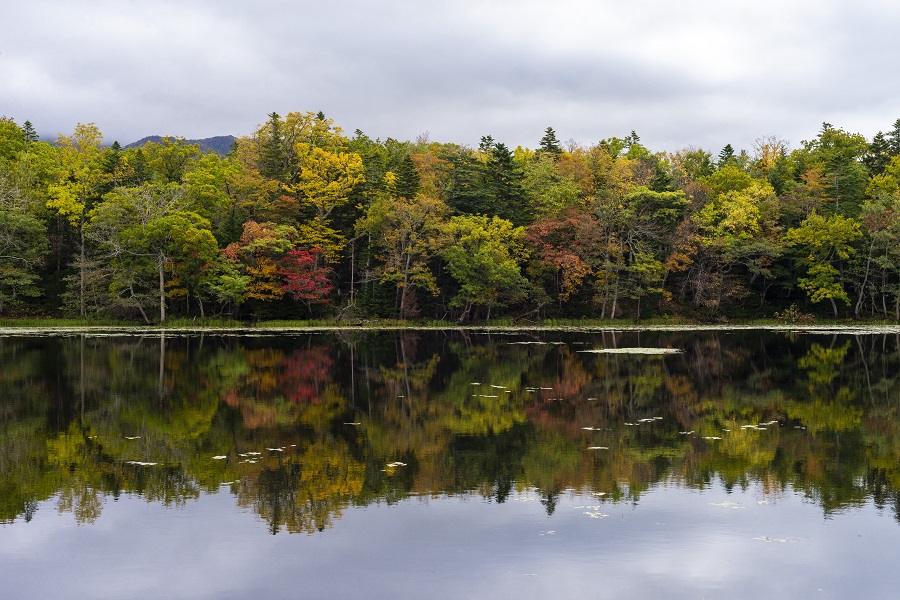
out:
{"label": "entire still lake surface mirroring both autumn trees and sky", "polygon": [[0,598],[897,598],[898,412],[883,332],[0,336]]}

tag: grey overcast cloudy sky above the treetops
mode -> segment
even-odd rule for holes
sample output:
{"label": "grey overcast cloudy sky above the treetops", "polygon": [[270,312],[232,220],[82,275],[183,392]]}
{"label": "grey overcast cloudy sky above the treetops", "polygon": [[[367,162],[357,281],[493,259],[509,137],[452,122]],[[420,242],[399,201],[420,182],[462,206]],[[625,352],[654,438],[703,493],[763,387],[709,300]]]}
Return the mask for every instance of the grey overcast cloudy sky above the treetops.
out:
{"label": "grey overcast cloudy sky above the treetops", "polygon": [[0,32],[0,114],[45,136],[245,135],[272,111],[347,132],[654,150],[900,118],[895,0],[28,0]]}

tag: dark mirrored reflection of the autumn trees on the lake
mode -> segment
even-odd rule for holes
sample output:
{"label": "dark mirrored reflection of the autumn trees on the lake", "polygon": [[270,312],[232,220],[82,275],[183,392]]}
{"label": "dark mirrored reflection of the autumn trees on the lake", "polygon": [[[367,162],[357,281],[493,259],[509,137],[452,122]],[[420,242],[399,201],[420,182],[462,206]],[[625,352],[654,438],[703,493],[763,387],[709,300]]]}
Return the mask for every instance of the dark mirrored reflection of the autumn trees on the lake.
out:
{"label": "dark mirrored reflection of the autumn trees on the lake", "polygon": [[[580,352],[636,346],[683,352]],[[713,481],[900,514],[894,335],[7,336],[0,364],[0,522],[207,492],[315,533],[412,496],[536,490],[553,514]]]}

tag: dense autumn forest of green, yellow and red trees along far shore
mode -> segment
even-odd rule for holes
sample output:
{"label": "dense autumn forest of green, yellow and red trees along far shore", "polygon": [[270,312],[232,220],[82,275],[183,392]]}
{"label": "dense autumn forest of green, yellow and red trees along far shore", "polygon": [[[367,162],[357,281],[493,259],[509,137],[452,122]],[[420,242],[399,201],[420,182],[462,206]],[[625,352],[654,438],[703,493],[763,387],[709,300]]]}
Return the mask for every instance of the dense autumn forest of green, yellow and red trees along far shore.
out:
{"label": "dense autumn forest of green, yellow and red trees along far shore", "polygon": [[382,141],[311,112],[225,156],[102,142],[0,119],[0,317],[900,320],[900,120],[717,155]]}

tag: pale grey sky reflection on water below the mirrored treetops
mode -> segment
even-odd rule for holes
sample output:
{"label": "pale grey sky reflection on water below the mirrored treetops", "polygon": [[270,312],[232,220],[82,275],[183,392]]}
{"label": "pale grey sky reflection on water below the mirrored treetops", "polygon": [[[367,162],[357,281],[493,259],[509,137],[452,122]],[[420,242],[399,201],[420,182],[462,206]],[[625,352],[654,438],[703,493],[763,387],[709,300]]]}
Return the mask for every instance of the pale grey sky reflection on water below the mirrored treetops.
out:
{"label": "pale grey sky reflection on water below the mirrored treetops", "polygon": [[312,536],[270,535],[225,492],[180,509],[123,497],[80,527],[45,502],[0,526],[0,597],[897,597],[888,511],[765,500],[717,484],[636,506],[563,493],[548,517],[536,495],[419,498],[349,508]]}

